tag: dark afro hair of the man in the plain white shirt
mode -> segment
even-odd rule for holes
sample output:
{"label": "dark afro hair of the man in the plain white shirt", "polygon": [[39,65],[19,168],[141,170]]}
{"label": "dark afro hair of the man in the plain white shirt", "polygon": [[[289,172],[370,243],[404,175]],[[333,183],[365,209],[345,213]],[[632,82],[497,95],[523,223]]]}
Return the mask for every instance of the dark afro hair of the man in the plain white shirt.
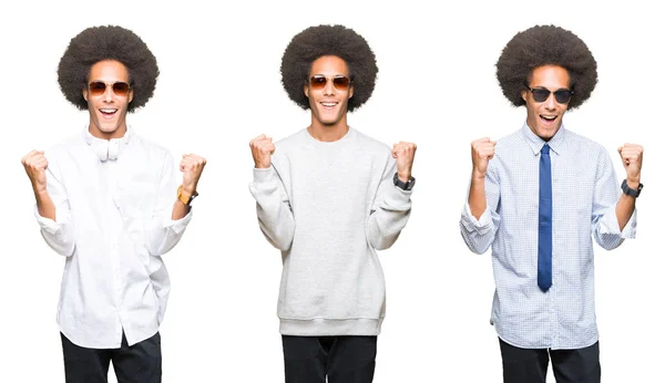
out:
{"label": "dark afro hair of the man in the plain white shirt", "polygon": [[58,65],[58,83],[66,100],[88,110],[81,91],[88,86],[90,68],[103,60],[116,60],[129,71],[134,97],[127,112],[145,105],[160,75],[157,60],[134,32],[115,25],[88,28],[70,41]]}

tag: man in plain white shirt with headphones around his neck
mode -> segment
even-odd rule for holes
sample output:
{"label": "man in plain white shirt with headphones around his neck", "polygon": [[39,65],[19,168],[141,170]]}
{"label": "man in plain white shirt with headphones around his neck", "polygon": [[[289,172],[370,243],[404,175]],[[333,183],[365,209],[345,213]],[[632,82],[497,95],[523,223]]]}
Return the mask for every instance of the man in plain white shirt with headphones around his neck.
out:
{"label": "man in plain white shirt with headphones around his neck", "polygon": [[126,125],[152,97],[155,56],[132,31],[94,27],[58,68],[62,93],[88,111],[82,132],[22,158],[41,234],[65,257],[58,306],[66,382],[161,382],[158,327],[170,281],[161,256],[192,219],[205,159],[173,156]]}

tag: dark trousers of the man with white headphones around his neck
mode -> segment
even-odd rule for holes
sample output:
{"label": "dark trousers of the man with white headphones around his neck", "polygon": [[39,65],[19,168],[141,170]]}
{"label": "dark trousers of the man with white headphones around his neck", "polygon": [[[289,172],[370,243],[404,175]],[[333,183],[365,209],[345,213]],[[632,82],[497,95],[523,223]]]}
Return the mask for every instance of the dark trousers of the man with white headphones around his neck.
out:
{"label": "dark trousers of the man with white headphones around his neck", "polygon": [[66,383],[106,383],[109,363],[117,383],[162,382],[162,345],[160,333],[129,346],[122,334],[120,349],[86,349],[70,342],[60,333]]}

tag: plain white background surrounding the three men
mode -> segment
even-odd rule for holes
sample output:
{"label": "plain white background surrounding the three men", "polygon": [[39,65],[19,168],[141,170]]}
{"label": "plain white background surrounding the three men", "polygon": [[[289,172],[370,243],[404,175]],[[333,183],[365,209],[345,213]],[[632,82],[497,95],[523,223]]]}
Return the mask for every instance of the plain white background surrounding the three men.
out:
{"label": "plain white background surrounding the three men", "polygon": [[390,145],[418,144],[411,219],[380,253],[388,309],[375,382],[501,382],[489,324],[490,255],[466,248],[458,220],[470,142],[505,136],[525,116],[502,96],[494,63],[518,31],[539,23],[574,31],[598,62],[597,87],[565,116],[566,126],[611,152],[620,180],[616,147],[645,146],[638,238],[612,252],[596,248],[596,313],[603,382],[661,379],[662,13],[635,0],[437,3],[3,2],[0,381],[64,381],[54,320],[64,260],[39,235],[20,159],[88,122],[61,95],[55,71],[70,39],[100,24],[132,29],[158,61],[155,95],[130,124],[176,156],[194,152],[208,159],[195,218],[164,257],[173,284],[161,330],[164,382],[284,381],[276,317],[280,256],[256,221],[248,142],[308,125],[309,114],[282,87],[279,64],[291,37],[320,23],[354,28],[378,59],[374,96],[349,115],[350,125]]}

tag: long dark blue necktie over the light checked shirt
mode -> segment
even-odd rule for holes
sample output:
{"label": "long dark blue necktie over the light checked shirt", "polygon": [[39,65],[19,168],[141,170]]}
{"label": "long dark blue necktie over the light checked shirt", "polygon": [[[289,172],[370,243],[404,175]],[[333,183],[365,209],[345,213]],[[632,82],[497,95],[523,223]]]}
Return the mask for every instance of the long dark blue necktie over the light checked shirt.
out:
{"label": "long dark blue necktie over the light checked shirt", "polygon": [[552,286],[552,167],[550,146],[543,145],[540,161],[538,204],[538,286],[548,291]]}

